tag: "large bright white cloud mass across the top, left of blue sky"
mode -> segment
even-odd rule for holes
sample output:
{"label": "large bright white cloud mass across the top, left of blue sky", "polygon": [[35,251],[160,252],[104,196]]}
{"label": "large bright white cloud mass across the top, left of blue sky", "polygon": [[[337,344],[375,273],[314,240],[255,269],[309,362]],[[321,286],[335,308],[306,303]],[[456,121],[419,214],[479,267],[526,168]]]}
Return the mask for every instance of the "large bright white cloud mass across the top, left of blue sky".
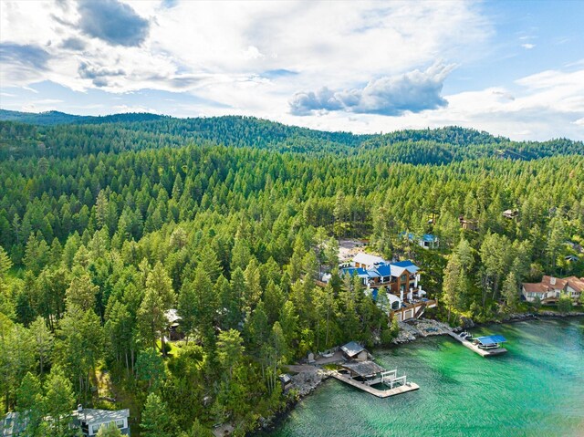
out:
{"label": "large bright white cloud mass across the top, left of blue sky", "polygon": [[[126,3],[108,0],[91,16],[92,2],[61,7],[5,1],[0,5],[0,41],[44,47],[51,56],[47,76],[76,90],[181,88],[214,98],[217,82],[237,88],[242,78],[287,69],[299,74],[271,80],[279,81],[278,90],[289,98],[318,81],[349,88],[432,64],[439,55],[457,57],[491,32],[478,8],[462,3],[359,2],[331,7],[327,2],[182,2],[171,8],[158,2]],[[120,26],[112,29],[100,19],[107,8],[123,12],[140,32],[129,35]],[[94,78],[78,74],[82,63],[126,75],[101,76],[94,83]],[[9,84],[26,85],[29,80],[13,78]],[[285,109],[287,99],[280,106]]]}

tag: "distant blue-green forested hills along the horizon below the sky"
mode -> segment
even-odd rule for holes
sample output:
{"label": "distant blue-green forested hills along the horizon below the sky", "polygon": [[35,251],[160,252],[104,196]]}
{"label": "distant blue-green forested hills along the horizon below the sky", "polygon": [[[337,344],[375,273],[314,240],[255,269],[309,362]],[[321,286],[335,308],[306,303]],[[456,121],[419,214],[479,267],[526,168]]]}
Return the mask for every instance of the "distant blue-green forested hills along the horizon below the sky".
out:
{"label": "distant blue-green forested hills along the horizon below the sky", "polygon": [[3,110],[0,120],[0,158],[120,152],[189,144],[253,147],[308,154],[354,155],[382,150],[387,161],[447,163],[482,157],[529,161],[584,154],[582,141],[565,139],[517,142],[487,132],[458,127],[400,130],[387,134],[355,135],[287,126],[253,117],[174,119],[154,114],[105,117],[69,116],[61,112],[28,114]]}

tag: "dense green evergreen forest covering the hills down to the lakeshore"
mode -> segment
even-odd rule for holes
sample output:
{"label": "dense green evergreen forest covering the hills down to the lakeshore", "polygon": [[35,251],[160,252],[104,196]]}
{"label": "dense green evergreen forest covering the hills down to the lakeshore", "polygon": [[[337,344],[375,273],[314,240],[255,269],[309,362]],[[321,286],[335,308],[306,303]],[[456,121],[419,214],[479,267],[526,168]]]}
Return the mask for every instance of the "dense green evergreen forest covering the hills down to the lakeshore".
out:
{"label": "dense green evergreen forest covering the hills down to the lakeshore", "polygon": [[[584,276],[581,141],[0,115],[0,393],[28,435],[69,435],[77,403],[130,408],[134,435],[253,430],[284,405],[286,364],[396,333],[337,275],[341,237],[413,259],[451,323],[527,309],[521,281]],[[167,344],[171,308],[186,339]]]}

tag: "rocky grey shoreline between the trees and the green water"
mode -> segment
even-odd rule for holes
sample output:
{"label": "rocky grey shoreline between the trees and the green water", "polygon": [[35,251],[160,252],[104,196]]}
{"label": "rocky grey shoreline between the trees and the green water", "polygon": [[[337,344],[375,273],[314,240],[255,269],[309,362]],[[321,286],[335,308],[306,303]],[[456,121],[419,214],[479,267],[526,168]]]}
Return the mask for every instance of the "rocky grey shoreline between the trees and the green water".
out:
{"label": "rocky grey shoreline between the trees and the green water", "polygon": [[[439,320],[417,319],[411,322],[400,322],[400,333],[396,338],[391,340],[392,344],[399,346],[405,343],[411,343],[418,338],[426,338],[433,336],[446,335],[448,331],[461,331],[465,328],[474,328],[494,323],[514,323],[526,320],[538,320],[542,318],[565,318],[565,317],[584,317],[582,311],[570,311],[568,313],[558,313],[555,311],[539,311],[537,314],[533,313],[516,313],[509,314],[505,317],[489,320],[485,323],[474,323],[472,319],[464,318],[463,324],[460,327],[451,328],[448,324]],[[327,369],[318,368],[317,366],[301,365],[291,366],[293,369],[298,369],[296,375],[292,376],[292,390],[288,393],[286,407],[282,411],[278,411],[270,418],[261,418],[259,420],[259,428],[257,431],[266,432],[272,430],[276,425],[287,417],[287,413],[292,411],[297,402],[308,396],[318,386],[330,377],[330,371]],[[247,434],[249,437],[255,435],[255,432]]]}

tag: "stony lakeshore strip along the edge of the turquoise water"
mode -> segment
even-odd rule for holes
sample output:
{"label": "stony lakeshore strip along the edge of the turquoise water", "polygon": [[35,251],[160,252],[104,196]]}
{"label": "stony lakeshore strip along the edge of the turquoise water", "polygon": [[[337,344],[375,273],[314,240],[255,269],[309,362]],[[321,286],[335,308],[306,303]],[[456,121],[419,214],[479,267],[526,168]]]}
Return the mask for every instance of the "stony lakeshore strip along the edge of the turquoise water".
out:
{"label": "stony lakeshore strip along the edge of the turquoise water", "polygon": [[[504,318],[500,318],[500,319],[493,319],[493,320],[489,320],[483,323],[474,323],[473,320],[470,320],[470,326],[466,326],[466,327],[454,327],[454,328],[450,328],[451,330],[457,332],[457,331],[461,331],[463,329],[467,329],[467,328],[478,328],[478,327],[484,327],[486,325],[493,325],[493,324],[506,324],[506,323],[516,323],[516,322],[523,322],[523,321],[532,321],[532,320],[543,320],[543,319],[554,319],[554,318],[570,318],[570,317],[584,317],[584,311],[570,311],[568,313],[565,314],[561,314],[561,313],[557,313],[555,311],[540,311],[537,314],[533,314],[533,313],[515,313],[515,314],[509,314]],[[435,337],[435,336],[445,336],[447,335],[446,332],[443,332],[441,329],[443,329],[443,327],[447,326],[445,323],[440,322],[439,320],[434,320],[434,319],[419,319],[419,320],[414,320],[413,321],[415,323],[415,326],[412,327],[409,324],[400,323],[400,334],[398,335],[397,338],[393,338],[393,340],[391,341],[390,345],[387,346],[381,346],[381,347],[376,347],[376,349],[393,349],[393,348],[398,348],[400,347],[400,345],[403,344],[407,344],[407,343],[412,343],[420,338],[426,338],[426,337]],[[410,328],[402,328],[402,325],[405,325],[407,327]],[[422,329],[418,329],[417,326],[418,325],[422,325]],[[434,331],[425,331],[425,329],[427,328],[436,328],[438,330]],[[402,333],[404,333],[405,331],[407,331],[405,333],[405,335],[402,335]],[[414,331],[417,331],[417,334],[414,334]],[[308,365],[307,365],[308,367]],[[266,432],[270,432],[273,431],[274,429],[276,429],[276,426],[279,425],[282,421],[285,421],[287,419],[288,414],[293,411],[297,404],[300,401],[303,401],[305,398],[308,397],[308,395],[310,395],[311,393],[313,393],[315,390],[318,389],[318,387],[320,387],[323,382],[325,382],[326,380],[328,380],[330,378],[330,373],[327,369],[321,369],[317,366],[309,366],[311,368],[310,372],[306,372],[304,375],[304,372],[300,372],[297,375],[295,375],[295,377],[298,377],[300,375],[299,378],[303,379],[305,382],[305,385],[301,386],[300,391],[297,392],[297,395],[293,398],[293,399],[288,399],[286,401],[286,406],[281,410],[281,411],[277,411],[273,416],[269,417],[269,418],[262,418],[260,419],[260,423],[257,429],[255,429],[255,431],[253,432],[247,432],[245,435],[246,437],[256,437],[258,436],[260,433],[266,433]],[[308,377],[309,382],[307,383],[307,375],[315,375],[316,378],[314,378],[313,376]],[[314,380],[312,380],[312,378],[314,378]]]}

